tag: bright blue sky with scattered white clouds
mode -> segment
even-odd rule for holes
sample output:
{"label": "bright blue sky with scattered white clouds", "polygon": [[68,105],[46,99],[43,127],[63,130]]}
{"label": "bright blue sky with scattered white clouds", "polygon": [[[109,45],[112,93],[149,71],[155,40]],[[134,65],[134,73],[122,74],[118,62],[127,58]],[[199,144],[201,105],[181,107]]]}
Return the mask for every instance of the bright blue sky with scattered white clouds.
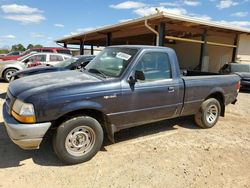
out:
{"label": "bright blue sky with scattered white clouds", "polygon": [[56,39],[156,13],[250,29],[250,0],[0,0],[0,48]]}

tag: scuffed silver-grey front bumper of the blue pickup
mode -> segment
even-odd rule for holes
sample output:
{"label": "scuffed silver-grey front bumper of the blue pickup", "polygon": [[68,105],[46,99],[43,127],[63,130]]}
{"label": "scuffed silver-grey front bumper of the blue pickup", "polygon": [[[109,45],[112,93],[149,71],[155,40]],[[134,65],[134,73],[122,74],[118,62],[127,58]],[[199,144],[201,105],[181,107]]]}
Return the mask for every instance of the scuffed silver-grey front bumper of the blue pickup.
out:
{"label": "scuffed silver-grey front bumper of the blue pickup", "polygon": [[3,119],[6,130],[11,140],[22,149],[38,149],[42,139],[51,126],[50,122],[22,124],[17,122],[3,105]]}

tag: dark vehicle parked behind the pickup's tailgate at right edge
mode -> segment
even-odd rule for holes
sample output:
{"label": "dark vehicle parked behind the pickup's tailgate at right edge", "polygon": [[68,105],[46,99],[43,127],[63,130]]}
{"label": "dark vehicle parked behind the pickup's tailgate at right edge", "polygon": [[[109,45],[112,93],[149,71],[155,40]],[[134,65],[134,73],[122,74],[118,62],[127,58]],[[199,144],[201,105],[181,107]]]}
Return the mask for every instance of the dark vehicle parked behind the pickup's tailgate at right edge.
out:
{"label": "dark vehicle parked behind the pickup's tailgate at right edge", "polygon": [[241,89],[250,89],[250,64],[228,63],[219,72],[239,75],[241,78]]}

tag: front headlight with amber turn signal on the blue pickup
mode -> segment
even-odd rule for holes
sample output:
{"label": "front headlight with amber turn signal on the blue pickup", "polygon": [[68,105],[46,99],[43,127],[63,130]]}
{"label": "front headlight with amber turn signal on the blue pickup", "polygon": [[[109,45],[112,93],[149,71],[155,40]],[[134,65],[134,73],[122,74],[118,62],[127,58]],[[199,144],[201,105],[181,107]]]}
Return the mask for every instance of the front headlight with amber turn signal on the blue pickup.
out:
{"label": "front headlight with amber turn signal on the blue pickup", "polygon": [[22,123],[35,123],[35,111],[33,104],[24,103],[16,99],[11,112],[13,117]]}

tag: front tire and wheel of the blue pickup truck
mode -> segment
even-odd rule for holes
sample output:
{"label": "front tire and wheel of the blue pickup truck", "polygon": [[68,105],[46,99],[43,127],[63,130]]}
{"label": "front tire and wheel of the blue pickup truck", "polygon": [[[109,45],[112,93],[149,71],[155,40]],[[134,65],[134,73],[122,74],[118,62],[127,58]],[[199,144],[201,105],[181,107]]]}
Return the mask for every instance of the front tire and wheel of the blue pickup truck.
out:
{"label": "front tire and wheel of the blue pickup truck", "polygon": [[78,116],[62,123],[53,138],[53,149],[66,164],[90,160],[101,149],[103,129],[89,116]]}

